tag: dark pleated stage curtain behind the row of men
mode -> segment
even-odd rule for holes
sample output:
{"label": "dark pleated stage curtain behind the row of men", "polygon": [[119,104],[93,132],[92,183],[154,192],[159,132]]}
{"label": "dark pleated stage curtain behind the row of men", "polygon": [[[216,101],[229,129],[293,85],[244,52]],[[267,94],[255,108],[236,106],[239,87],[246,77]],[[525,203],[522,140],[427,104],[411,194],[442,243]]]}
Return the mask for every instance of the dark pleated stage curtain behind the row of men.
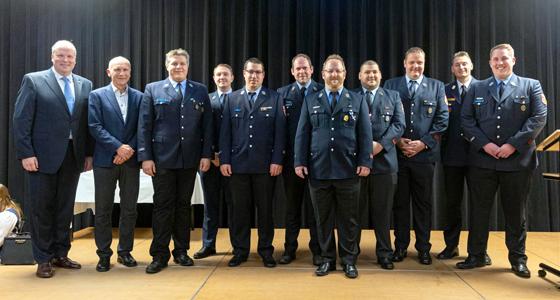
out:
{"label": "dark pleated stage curtain behind the row of men", "polygon": [[[59,39],[78,49],[75,73],[95,87],[108,83],[108,60],[123,55],[132,61],[131,85],[138,89],[166,76],[164,54],[182,47],[191,54],[189,77],[214,88],[217,63],[235,70],[242,86],[242,64],[251,56],[266,66],[265,85],[278,88],[293,80],[290,61],[304,52],[320,80],[321,62],[331,53],[346,59],[347,86],[357,87],[358,69],[377,60],[383,77],[403,74],[403,53],[420,46],[427,53],[426,74],[451,80],[450,58],[468,51],[477,78],[490,76],[489,49],[513,45],[515,72],[541,81],[547,95],[548,124],[541,141],[559,128],[560,1],[558,0],[4,0],[0,1],[0,181],[23,201],[24,178],[15,158],[11,133],[16,93],[25,73],[49,68],[50,47]],[[539,154],[529,202],[529,228],[560,230],[558,183],[543,171],[558,172],[558,154]],[[436,173],[434,228],[443,224],[445,202],[441,172]],[[282,225],[283,195],[276,221]],[[505,199],[507,201],[507,199]],[[466,205],[466,204],[465,204]],[[507,203],[505,204],[507,205]],[[499,206],[492,229],[503,229]]]}

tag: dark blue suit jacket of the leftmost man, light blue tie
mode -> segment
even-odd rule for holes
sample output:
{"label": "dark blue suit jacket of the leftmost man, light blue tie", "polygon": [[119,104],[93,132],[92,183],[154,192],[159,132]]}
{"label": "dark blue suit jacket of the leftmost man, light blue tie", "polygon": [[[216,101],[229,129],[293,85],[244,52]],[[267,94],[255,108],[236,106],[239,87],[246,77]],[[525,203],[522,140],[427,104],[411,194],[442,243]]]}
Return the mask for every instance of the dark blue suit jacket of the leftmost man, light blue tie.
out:
{"label": "dark blue suit jacket of the leftmost man, light blue tie", "polygon": [[39,172],[54,174],[64,161],[68,138],[72,144],[76,168],[84,168],[86,156],[93,155],[93,139],[88,132],[88,95],[91,81],[72,74],[75,103],[70,114],[64,94],[51,69],[23,77],[14,108],[16,156],[36,156]]}

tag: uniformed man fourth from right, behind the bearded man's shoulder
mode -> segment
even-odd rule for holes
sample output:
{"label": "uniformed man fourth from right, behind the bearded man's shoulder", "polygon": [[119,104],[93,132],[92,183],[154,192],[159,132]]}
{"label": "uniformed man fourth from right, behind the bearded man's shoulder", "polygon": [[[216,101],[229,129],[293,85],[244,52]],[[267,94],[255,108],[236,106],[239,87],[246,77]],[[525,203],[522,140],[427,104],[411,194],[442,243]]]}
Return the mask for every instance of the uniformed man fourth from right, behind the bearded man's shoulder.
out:
{"label": "uniformed man fourth from right, behind the bearded man's shoulder", "polygon": [[366,100],[373,137],[371,172],[360,180],[360,224],[373,224],[377,263],[392,270],[391,212],[398,171],[395,144],[406,126],[404,111],[399,93],[380,87],[382,77],[377,62],[362,63],[358,78],[362,87],[356,92]]}

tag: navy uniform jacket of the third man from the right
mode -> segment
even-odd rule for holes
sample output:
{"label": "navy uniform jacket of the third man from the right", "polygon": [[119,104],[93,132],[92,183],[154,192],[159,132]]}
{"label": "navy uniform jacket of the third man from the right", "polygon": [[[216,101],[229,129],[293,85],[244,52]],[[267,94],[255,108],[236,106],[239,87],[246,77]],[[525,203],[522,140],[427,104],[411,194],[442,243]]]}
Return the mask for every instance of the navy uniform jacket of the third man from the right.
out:
{"label": "navy uniform jacket of the third man from the right", "polygon": [[387,80],[383,87],[395,90],[401,96],[406,118],[406,129],[402,137],[421,140],[428,146],[428,149],[411,158],[404,156],[399,150],[399,159],[421,163],[439,160],[439,139],[447,129],[449,120],[443,82],[424,75],[412,99],[404,76]]}

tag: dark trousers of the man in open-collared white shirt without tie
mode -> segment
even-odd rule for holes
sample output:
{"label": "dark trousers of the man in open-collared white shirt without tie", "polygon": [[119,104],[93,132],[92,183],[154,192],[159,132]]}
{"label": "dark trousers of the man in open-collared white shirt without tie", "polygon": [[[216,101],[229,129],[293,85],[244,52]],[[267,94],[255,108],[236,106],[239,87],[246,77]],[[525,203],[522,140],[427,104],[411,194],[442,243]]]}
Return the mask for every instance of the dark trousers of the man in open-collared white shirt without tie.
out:
{"label": "dark trousers of the man in open-collared white shirt without tie", "polygon": [[95,245],[99,257],[111,257],[113,202],[115,187],[119,183],[119,255],[130,254],[134,245],[134,226],[136,225],[136,202],[140,184],[138,167],[119,165],[112,168],[95,167]]}

